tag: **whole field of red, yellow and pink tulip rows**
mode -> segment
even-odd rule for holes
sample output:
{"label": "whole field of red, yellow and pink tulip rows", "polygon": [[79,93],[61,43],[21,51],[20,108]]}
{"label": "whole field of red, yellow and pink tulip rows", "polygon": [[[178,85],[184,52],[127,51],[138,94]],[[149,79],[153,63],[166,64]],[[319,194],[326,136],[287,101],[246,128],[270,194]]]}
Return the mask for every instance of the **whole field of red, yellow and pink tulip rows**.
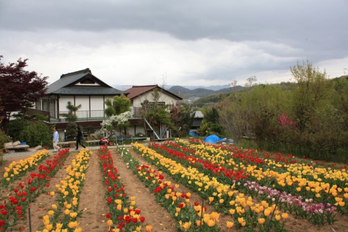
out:
{"label": "whole field of red, yellow and pink tulip rows", "polygon": [[347,231],[347,166],[175,139],[0,166],[0,231]]}

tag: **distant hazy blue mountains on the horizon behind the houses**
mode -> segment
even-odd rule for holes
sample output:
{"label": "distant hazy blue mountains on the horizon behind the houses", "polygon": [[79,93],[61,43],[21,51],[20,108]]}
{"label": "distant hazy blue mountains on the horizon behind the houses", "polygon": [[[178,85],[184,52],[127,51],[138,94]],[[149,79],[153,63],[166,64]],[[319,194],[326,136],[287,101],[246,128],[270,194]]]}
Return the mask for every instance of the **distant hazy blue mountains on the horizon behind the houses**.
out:
{"label": "distant hazy blue mountains on the horizon behind the houses", "polygon": [[[113,88],[125,91],[132,86],[113,86]],[[237,86],[236,89],[242,89],[244,87]],[[228,85],[224,86],[165,86],[165,89],[181,98],[202,98],[208,95],[216,93],[230,93],[231,88]]]}

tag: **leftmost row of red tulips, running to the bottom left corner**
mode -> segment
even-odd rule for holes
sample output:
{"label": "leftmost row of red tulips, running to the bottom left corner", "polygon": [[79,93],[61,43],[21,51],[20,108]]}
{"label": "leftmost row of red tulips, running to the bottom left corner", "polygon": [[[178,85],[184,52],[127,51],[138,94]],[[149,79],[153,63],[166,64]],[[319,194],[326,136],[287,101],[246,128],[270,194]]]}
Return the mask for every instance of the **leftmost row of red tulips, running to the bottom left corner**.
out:
{"label": "leftmost row of red tulips, running to the bottom left corner", "polygon": [[29,204],[33,202],[45,187],[49,186],[49,180],[61,168],[63,162],[69,155],[69,149],[61,150],[52,160],[46,160],[40,164],[37,173],[31,173],[26,183],[19,183],[8,197],[0,205],[0,231],[7,231],[10,226],[15,226],[19,219],[22,219]]}

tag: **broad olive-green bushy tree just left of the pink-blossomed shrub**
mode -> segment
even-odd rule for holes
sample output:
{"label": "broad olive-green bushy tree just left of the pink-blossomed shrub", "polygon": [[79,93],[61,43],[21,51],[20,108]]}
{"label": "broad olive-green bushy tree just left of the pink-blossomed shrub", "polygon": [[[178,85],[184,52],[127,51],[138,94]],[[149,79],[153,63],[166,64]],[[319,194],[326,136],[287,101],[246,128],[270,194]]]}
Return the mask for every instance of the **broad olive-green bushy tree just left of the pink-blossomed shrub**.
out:
{"label": "broad olive-green bushy tree just left of the pink-blossomed shrub", "polygon": [[216,104],[219,124],[235,139],[274,141],[276,118],[288,111],[290,91],[280,85],[258,85],[232,93]]}

